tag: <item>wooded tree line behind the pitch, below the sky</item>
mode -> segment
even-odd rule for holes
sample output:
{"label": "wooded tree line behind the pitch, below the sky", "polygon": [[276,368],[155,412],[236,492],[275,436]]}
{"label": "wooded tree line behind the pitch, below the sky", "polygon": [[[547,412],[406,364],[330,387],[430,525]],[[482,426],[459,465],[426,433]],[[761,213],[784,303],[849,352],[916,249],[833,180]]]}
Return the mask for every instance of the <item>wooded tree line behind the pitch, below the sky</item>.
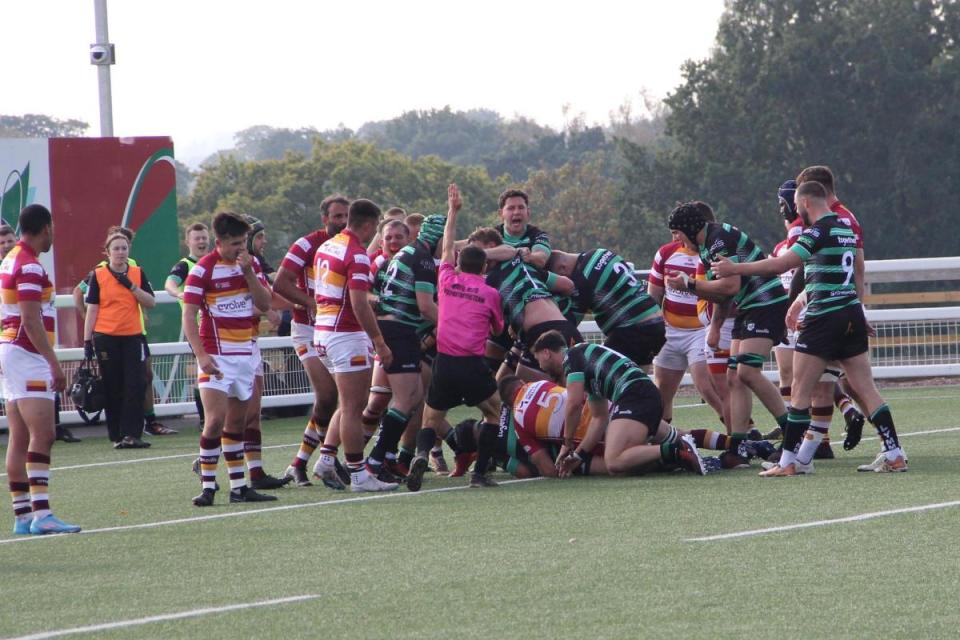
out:
{"label": "wooded tree line behind the pitch, below the sky", "polygon": [[278,258],[334,191],[434,213],[455,181],[466,234],[520,186],[556,246],[604,246],[642,267],[669,239],[670,210],[691,199],[772,248],[777,187],[828,164],[868,258],[957,255],[944,232],[960,202],[957,34],[955,0],[731,0],[711,55],[685,63],[642,116],[621,107],[605,124],[571,117],[556,130],[447,107],[356,131],[251,127],[198,171],[178,167],[180,216],[255,215]]}

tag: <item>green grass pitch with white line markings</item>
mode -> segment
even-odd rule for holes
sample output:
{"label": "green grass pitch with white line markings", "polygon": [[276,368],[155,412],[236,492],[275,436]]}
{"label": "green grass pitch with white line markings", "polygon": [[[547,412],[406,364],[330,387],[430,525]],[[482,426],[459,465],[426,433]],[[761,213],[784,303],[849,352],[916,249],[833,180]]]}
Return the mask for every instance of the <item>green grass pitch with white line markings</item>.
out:
{"label": "green grass pitch with white line markings", "polygon": [[[849,453],[836,446],[837,459],[818,462],[812,477],[764,480],[755,462],[750,471],[708,477],[461,490],[465,479],[430,473],[419,494],[401,488],[357,500],[314,486],[279,491],[275,503],[229,505],[224,491],[201,510],[190,504],[198,492],[192,428],[153,438],[143,451],[114,451],[102,438],[58,444],[51,482],[58,515],[88,531],[166,524],[12,541],[6,505],[0,637],[151,616],[160,619],[85,635],[956,637],[960,507],[689,540],[960,500],[960,430],[948,430],[960,426],[960,386],[885,395],[904,435],[906,474],[856,472],[877,453],[873,438]],[[712,420],[705,408],[681,408],[676,423]],[[283,472],[302,426],[299,418],[264,423],[269,472]],[[909,435],[921,431],[933,432]],[[873,435],[868,425],[865,437]],[[136,458],[158,459],[117,464]],[[62,468],[93,463],[107,464]],[[227,514],[242,515],[197,519]],[[219,611],[292,596],[314,597]]]}

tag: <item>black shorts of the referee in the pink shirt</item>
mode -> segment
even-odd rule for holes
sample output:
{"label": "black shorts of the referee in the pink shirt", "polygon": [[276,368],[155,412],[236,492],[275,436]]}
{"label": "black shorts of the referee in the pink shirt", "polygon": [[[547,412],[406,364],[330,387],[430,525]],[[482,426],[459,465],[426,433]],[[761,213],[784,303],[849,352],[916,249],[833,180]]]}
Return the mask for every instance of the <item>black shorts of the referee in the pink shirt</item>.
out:
{"label": "black shorts of the referee in the pink shirt", "polygon": [[427,391],[427,406],[449,411],[465,404],[475,407],[497,392],[493,374],[482,356],[450,356],[438,353]]}

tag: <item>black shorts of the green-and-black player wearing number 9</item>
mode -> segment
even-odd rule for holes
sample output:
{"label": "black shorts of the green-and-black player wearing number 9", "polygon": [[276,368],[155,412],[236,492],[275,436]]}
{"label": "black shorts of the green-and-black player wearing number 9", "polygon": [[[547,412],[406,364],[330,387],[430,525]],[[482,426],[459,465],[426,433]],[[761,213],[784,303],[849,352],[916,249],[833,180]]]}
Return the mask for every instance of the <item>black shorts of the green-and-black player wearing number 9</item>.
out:
{"label": "black shorts of the green-and-black player wearing number 9", "polygon": [[820,316],[807,316],[795,348],[824,360],[846,360],[865,353],[869,339],[863,307],[852,304]]}

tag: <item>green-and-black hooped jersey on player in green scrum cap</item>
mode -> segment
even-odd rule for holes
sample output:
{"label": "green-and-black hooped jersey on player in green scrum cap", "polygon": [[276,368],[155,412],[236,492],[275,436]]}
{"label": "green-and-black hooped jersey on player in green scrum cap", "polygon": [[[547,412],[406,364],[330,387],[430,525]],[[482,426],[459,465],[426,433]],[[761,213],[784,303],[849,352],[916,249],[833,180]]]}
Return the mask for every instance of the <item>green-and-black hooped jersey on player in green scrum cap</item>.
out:
{"label": "green-and-black hooped jersey on player in green scrum cap", "polygon": [[398,251],[376,274],[380,296],[377,315],[390,314],[397,322],[422,331],[431,322],[420,313],[417,292],[437,292],[437,268],[433,255],[419,240]]}

